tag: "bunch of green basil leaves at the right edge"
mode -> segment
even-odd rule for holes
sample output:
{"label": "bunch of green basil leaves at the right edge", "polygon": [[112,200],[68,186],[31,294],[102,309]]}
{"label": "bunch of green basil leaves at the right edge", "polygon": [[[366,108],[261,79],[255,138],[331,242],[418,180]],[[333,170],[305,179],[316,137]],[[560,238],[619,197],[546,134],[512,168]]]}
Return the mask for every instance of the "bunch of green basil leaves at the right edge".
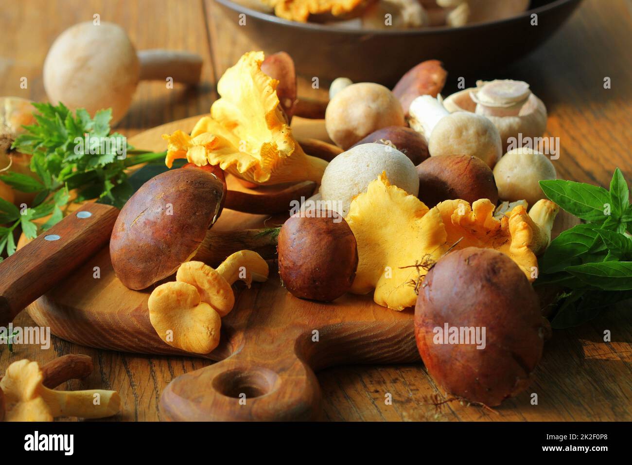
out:
{"label": "bunch of green basil leaves at the right edge", "polygon": [[540,258],[536,285],[564,289],[551,325],[580,325],[632,298],[632,206],[621,170],[614,171],[610,190],[564,180],[540,181],[540,187],[583,220],[554,239]]}

